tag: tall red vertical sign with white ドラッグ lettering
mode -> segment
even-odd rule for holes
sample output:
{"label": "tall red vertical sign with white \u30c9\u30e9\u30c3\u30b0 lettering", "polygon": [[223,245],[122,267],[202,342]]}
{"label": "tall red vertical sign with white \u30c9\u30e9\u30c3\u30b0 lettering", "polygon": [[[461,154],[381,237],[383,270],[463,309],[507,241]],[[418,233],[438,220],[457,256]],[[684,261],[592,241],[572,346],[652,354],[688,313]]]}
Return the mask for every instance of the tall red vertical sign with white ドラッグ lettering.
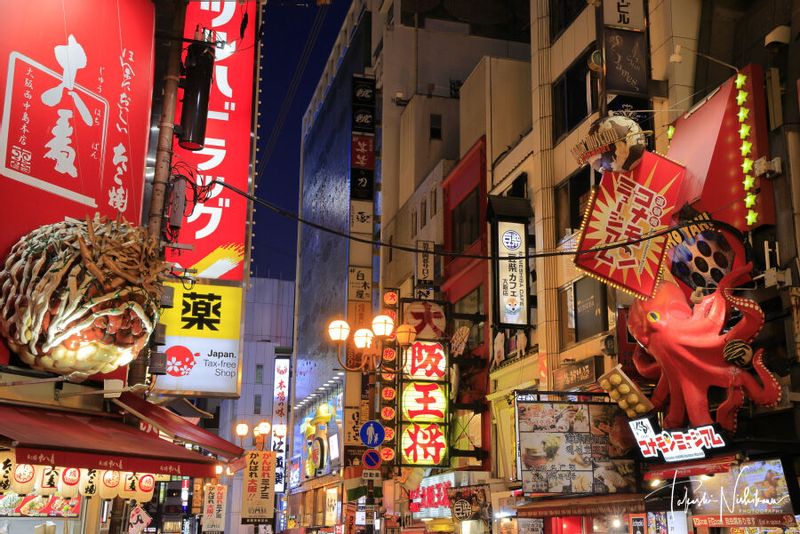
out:
{"label": "tall red vertical sign with white \u30c9\u30e9\u30c3\u30b0 lettering", "polygon": [[[197,169],[201,186],[219,180],[243,191],[250,188],[257,4],[254,0],[187,4],[184,37],[192,39],[197,27],[207,28],[223,43],[214,49],[205,147],[190,152],[177,140],[174,144],[176,159]],[[244,17],[251,22],[243,24]],[[247,217],[247,199],[215,185],[210,198],[194,207],[181,229],[181,239],[194,249],[167,249],[167,260],[197,269],[200,278],[242,280]]]}

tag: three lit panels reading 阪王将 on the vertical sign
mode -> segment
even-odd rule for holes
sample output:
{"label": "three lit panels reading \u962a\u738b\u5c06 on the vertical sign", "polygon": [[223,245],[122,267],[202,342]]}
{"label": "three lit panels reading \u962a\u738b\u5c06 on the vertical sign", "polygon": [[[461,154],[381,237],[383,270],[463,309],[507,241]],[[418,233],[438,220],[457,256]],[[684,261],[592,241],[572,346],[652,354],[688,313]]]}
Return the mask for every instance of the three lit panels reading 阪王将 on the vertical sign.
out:
{"label": "three lit panels reading \u962a\u738b\u5c06 on the vertical sign", "polygon": [[404,465],[446,465],[448,355],[441,343],[417,341],[409,347],[400,380],[400,439]]}

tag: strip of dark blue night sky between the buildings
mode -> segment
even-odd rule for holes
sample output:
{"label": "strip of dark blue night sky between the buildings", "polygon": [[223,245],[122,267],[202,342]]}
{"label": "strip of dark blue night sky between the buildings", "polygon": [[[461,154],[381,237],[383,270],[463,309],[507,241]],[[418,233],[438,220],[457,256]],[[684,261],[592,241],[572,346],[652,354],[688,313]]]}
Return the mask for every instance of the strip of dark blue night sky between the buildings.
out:
{"label": "strip of dark blue night sky between the buildings", "polygon": [[[299,4],[299,5],[298,5]],[[305,4],[305,5],[304,5]],[[290,0],[271,0],[265,9],[262,40],[261,124],[259,128],[259,163],[264,166],[266,146],[278,122],[292,78],[301,62],[306,42],[317,13],[323,17],[303,76],[297,85],[294,100],[278,130],[271,157],[258,179],[256,194],[292,213],[297,213],[297,192],[300,172],[300,125],[308,101],[328,59],[333,42],[347,14],[350,0],[333,0],[328,6],[316,6]],[[319,23],[318,23],[319,24]],[[295,277],[297,225],[267,208],[257,207],[253,236],[253,276]]]}

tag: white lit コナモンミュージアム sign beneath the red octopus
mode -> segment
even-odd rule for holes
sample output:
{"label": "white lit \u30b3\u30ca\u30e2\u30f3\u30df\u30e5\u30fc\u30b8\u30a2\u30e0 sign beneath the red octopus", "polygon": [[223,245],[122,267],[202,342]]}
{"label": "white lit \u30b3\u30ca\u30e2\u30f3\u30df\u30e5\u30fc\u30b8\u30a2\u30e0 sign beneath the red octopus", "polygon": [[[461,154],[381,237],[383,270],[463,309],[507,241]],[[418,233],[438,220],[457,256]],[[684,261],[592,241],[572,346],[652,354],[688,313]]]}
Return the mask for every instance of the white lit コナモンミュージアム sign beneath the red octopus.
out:
{"label": "white lit \u30b3\u30ca\u30e2\u30f3\u30df\u30e5\u30fc\u30b8\u30a2\u30e0 sign beneath the red octopus", "polygon": [[660,454],[664,461],[680,462],[705,458],[706,451],[725,447],[725,440],[711,425],[656,433],[647,418],[629,421],[628,424],[645,458],[658,458]]}

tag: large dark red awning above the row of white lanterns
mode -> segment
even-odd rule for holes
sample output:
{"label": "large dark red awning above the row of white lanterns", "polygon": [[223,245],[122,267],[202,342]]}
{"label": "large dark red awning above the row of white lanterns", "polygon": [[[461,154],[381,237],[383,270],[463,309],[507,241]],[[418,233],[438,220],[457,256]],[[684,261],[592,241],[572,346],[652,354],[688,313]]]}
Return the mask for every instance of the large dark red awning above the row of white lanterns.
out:
{"label": "large dark red awning above the row of white lanterns", "polygon": [[213,477],[216,460],[111,417],[0,405],[17,463]]}

